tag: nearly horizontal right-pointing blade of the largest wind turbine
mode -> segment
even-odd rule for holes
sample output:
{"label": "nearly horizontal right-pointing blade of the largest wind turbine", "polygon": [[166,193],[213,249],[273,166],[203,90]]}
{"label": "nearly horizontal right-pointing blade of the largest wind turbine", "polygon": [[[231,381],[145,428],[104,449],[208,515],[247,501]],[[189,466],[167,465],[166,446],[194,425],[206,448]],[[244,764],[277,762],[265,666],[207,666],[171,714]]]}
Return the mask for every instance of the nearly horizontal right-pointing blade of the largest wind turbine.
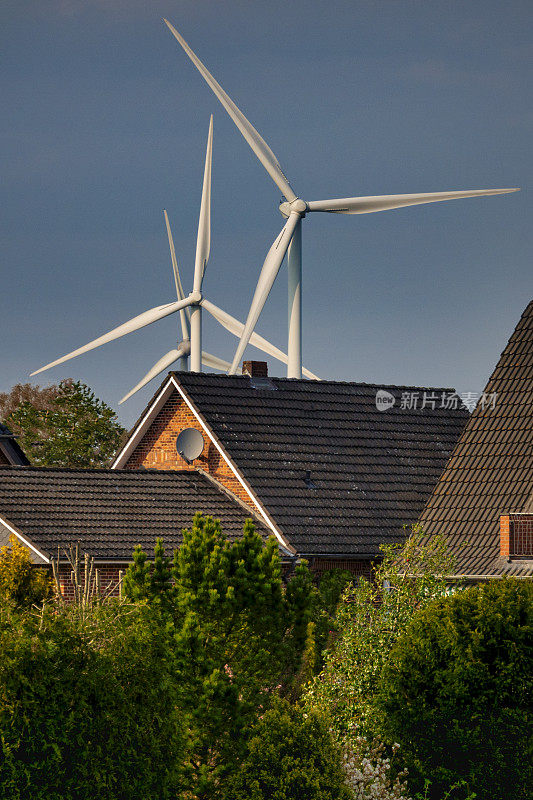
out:
{"label": "nearly horizontal right-pointing blade of the largest wind turbine", "polygon": [[442,200],[460,200],[465,197],[485,197],[509,194],[520,189],[471,189],[463,192],[421,192],[419,194],[383,194],[370,197],[342,197],[339,200],[312,200],[309,211],[329,211],[332,214],[372,214],[422,203],[439,203]]}

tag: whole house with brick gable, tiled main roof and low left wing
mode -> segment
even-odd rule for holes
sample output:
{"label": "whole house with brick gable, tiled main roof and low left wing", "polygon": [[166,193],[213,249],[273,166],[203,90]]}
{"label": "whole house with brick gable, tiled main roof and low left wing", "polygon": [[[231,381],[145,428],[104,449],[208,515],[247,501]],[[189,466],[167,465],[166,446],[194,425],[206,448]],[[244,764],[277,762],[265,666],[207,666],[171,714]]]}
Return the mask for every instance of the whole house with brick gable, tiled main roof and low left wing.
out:
{"label": "whole house with brick gable, tiled main roof and low left wing", "polygon": [[[196,512],[240,536],[252,518],[274,535],[287,573],[300,558],[321,574],[370,576],[382,542],[416,521],[468,413],[451,389],[170,373],[112,469],[0,466],[0,545],[14,534],[38,566],[79,543],[100,584],[116,584],[141,544],[169,551]],[[413,402],[413,398],[415,398]],[[453,402],[450,402],[450,398]],[[193,430],[194,458],[176,439]]]}

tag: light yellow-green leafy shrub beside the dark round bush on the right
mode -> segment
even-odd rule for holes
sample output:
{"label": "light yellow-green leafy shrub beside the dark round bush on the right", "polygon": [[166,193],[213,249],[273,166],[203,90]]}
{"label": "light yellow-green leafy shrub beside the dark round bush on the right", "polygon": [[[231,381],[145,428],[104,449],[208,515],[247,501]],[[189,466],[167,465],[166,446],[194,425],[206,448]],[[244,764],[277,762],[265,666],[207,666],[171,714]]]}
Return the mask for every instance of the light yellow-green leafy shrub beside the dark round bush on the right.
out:
{"label": "light yellow-green leafy shrub beside the dark round bush on the right", "polygon": [[452,572],[446,541],[434,536],[422,544],[422,538],[414,528],[404,544],[382,546],[374,581],[346,589],[337,610],[339,635],[306,692],[306,707],[327,711],[347,746],[379,734],[376,690],[392,647],[413,614],[446,593],[444,576]]}

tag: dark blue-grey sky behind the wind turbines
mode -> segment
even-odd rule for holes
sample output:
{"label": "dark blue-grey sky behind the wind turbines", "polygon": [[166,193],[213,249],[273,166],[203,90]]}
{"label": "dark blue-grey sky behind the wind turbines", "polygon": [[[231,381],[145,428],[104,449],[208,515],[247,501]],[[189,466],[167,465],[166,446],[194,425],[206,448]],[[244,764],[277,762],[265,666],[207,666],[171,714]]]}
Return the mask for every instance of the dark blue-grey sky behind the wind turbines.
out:
{"label": "dark blue-grey sky behind the wind turbines", "polygon": [[[279,192],[168,17],[305,199],[521,186],[514,195],[304,222],[304,361],[323,378],[481,391],[531,299],[530,0],[4,0],[0,391],[191,287],[214,113],[204,288],[244,319]],[[286,348],[286,270],[257,331]],[[118,399],[171,317],[39,375]],[[236,340],[206,319],[204,346]],[[259,353],[249,348],[251,357]],[[270,360],[273,374],[284,368]],[[130,424],[158,383],[120,407]]]}

